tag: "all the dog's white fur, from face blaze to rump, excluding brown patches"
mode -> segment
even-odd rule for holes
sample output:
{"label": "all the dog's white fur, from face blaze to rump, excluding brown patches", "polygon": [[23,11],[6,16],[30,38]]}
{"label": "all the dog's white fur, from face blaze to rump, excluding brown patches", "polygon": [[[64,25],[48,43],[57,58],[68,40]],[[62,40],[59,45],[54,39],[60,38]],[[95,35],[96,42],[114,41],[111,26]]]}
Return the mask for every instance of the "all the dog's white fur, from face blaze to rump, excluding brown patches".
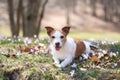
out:
{"label": "all the dog's white fur, from face blaze to rump, excluding brown patches", "polygon": [[[54,59],[54,64],[58,67],[66,67],[75,58],[75,52],[76,52],[77,45],[76,45],[74,39],[68,38],[68,37],[66,37],[66,42],[62,43],[60,36],[63,34],[59,30],[54,31],[54,33],[52,33],[51,35],[55,36],[55,38],[50,43],[50,49],[51,49],[51,54]],[[61,49],[59,51],[55,49],[56,42],[60,43]],[[90,46],[89,46],[90,44],[85,41],[84,41],[84,44],[85,44],[86,50],[85,50],[83,56],[88,55],[90,52]],[[86,58],[88,58],[88,57],[86,57]],[[60,61],[62,61],[62,62],[60,63]]]}

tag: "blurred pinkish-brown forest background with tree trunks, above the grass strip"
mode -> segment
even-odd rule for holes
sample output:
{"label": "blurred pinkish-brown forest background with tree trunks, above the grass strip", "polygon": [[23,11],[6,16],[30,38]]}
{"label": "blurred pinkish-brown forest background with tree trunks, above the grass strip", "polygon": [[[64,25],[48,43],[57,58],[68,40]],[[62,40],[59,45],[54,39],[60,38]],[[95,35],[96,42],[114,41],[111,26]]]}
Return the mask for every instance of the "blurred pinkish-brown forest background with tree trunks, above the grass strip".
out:
{"label": "blurred pinkish-brown forest background with tree trunks, above the grass strip", "polygon": [[65,25],[78,32],[119,34],[120,0],[0,0],[0,29],[10,29],[12,36],[20,31],[24,37],[39,36],[44,26]]}

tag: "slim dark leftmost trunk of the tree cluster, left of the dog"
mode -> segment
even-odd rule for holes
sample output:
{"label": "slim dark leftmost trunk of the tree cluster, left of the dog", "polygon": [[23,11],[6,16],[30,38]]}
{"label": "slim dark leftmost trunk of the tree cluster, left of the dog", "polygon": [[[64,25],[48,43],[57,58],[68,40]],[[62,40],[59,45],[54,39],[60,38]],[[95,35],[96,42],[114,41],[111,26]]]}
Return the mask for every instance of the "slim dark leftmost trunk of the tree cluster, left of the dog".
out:
{"label": "slim dark leftmost trunk of the tree cluster, left of the dog", "polygon": [[14,19],[14,5],[13,5],[13,0],[7,0],[8,3],[8,13],[9,13],[9,20],[10,20],[10,28],[12,32],[12,36],[18,36],[19,32],[17,31],[17,26],[15,24],[15,19]]}

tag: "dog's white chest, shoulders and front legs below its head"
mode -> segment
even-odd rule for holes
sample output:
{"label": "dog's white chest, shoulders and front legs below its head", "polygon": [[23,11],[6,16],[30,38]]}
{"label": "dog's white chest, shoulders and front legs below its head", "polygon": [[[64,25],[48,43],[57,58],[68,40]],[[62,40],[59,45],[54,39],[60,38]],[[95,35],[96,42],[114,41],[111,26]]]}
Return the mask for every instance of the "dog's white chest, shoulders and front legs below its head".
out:
{"label": "dog's white chest, shoulders and front legs below its head", "polygon": [[[72,38],[67,38],[66,43],[64,46],[60,49],[60,51],[56,51],[53,44],[50,44],[51,47],[51,54],[53,55],[53,59],[55,61],[55,64],[58,67],[65,67],[68,64],[70,64],[75,57],[75,50],[76,50],[76,44],[74,43],[74,40]],[[60,64],[60,60],[63,60]]]}

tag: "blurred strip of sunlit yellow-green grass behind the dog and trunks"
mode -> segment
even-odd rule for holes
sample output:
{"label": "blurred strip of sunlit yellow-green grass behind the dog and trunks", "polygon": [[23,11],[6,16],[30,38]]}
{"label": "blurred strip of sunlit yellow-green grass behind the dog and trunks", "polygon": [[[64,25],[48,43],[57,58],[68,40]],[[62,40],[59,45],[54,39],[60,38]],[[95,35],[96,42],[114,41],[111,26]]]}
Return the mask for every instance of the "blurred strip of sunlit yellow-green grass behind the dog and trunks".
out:
{"label": "blurred strip of sunlit yellow-green grass behind the dog and trunks", "polygon": [[[0,26],[0,35],[2,36],[11,36],[10,28],[8,26]],[[20,31],[20,36],[22,36],[22,31]],[[109,40],[118,40],[120,41],[120,33],[115,32],[80,32],[78,30],[71,30],[69,37],[81,38],[81,39],[109,39]],[[39,37],[47,37],[45,29],[42,29]]]}

